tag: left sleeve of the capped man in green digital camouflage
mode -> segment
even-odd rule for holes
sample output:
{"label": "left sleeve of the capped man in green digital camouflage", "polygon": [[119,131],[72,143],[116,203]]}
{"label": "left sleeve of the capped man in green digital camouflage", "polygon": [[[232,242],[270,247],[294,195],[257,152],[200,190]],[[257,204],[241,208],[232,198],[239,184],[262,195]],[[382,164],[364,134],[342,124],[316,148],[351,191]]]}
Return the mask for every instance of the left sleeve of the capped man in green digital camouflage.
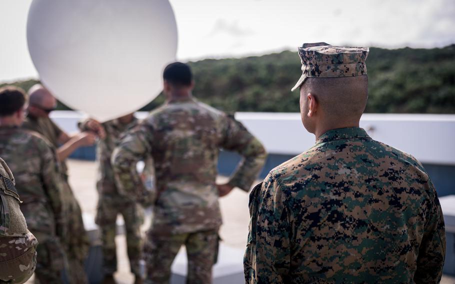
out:
{"label": "left sleeve of the capped man in green digital camouflage", "polygon": [[246,282],[289,283],[292,213],[278,181],[270,175],[257,193],[255,200],[250,201],[251,220],[244,260]]}

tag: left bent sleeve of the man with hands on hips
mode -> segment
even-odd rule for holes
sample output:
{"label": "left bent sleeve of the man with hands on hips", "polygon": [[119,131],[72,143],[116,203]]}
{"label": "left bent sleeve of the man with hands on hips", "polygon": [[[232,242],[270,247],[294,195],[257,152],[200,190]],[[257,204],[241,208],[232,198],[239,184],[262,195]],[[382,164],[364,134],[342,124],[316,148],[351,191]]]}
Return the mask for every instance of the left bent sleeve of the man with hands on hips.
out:
{"label": "left bent sleeve of the man with hands on hips", "polygon": [[151,140],[151,126],[139,124],[123,135],[111,156],[119,193],[144,205],[151,205],[155,196],[143,184],[136,164],[139,160],[144,160],[150,152]]}

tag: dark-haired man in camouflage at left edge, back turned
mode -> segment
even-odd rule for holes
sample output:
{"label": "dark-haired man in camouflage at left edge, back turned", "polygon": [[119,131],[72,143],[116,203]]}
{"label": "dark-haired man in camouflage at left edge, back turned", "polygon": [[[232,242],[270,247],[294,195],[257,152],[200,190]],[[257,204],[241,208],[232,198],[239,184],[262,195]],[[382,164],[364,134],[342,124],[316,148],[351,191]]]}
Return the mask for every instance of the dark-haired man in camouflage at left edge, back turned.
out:
{"label": "dark-haired man in camouflage at left edge, back turned", "polygon": [[37,133],[18,127],[25,96],[17,88],[0,89],[0,156],[14,172],[23,201],[20,209],[39,241],[36,278],[41,283],[61,283],[65,264],[61,239],[66,237],[61,173],[52,146]]}

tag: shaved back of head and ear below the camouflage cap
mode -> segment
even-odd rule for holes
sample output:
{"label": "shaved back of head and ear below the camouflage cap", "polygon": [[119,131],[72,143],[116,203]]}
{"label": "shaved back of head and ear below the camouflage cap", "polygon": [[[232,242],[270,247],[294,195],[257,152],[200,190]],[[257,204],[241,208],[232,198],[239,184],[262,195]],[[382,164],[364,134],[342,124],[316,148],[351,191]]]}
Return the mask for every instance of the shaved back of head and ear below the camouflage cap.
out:
{"label": "shaved back of head and ear below the camouflage cap", "polygon": [[[312,116],[308,111],[311,109]],[[314,78],[308,77],[300,86],[300,111],[305,128],[316,131],[316,128],[356,125],[366,107],[368,98],[368,77],[346,76]],[[315,103],[315,104],[314,104]],[[332,126],[330,126],[332,125]]]}

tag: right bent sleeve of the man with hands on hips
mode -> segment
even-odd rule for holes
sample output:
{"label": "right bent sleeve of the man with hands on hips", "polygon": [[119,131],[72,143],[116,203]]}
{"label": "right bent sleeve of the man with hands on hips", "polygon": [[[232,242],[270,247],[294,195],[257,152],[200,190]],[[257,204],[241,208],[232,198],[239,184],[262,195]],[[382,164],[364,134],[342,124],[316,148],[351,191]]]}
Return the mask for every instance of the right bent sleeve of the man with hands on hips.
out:
{"label": "right bent sleeve of the man with hands on hips", "polygon": [[262,143],[241,122],[226,116],[221,147],[235,151],[242,156],[242,160],[230,176],[228,184],[248,191],[267,157]]}

